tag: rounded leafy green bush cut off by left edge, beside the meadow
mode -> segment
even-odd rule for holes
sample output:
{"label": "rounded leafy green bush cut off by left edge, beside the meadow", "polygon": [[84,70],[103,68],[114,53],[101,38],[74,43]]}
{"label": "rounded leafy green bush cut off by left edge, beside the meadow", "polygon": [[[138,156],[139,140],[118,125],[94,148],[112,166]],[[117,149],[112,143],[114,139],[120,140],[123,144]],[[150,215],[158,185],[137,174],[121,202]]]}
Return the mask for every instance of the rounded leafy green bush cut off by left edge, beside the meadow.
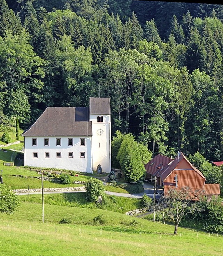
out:
{"label": "rounded leafy green bush cut off by left edge, beside the meadow", "polygon": [[0,184],[0,212],[12,214],[18,206],[20,206],[20,198],[5,185]]}

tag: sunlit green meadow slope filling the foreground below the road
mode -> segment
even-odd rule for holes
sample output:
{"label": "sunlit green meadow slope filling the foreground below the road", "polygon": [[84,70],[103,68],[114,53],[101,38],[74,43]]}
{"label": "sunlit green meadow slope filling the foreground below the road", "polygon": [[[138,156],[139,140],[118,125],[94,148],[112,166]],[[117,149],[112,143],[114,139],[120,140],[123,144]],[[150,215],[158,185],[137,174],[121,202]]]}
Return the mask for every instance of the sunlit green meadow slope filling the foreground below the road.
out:
{"label": "sunlit green meadow slope filling the foreground below the road", "polygon": [[[1,215],[0,239],[2,256],[103,256],[103,255],[165,255],[222,256],[222,236],[209,236],[141,218],[100,209],[67,206],[42,206],[22,202],[13,215]],[[91,221],[102,215],[104,225]],[[58,224],[62,218],[71,224]],[[140,234],[141,232],[141,234]]]}

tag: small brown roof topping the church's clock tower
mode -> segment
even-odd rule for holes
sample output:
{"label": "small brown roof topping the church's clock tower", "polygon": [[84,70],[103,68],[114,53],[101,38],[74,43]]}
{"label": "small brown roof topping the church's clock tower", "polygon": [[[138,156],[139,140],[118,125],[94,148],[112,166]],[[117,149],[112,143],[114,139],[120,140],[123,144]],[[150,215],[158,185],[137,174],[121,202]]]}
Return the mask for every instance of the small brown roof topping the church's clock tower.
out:
{"label": "small brown roof topping the church's clock tower", "polygon": [[89,99],[90,114],[111,114],[110,98],[90,98]]}

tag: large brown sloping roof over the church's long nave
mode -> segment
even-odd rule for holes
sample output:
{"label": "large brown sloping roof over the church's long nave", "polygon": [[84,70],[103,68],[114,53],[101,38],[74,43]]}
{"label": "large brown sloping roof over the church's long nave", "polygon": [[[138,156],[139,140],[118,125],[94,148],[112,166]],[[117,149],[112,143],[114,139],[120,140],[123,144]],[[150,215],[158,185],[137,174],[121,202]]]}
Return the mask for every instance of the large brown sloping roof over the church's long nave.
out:
{"label": "large brown sloping roof over the church's long nave", "polygon": [[87,107],[48,107],[22,136],[92,136]]}

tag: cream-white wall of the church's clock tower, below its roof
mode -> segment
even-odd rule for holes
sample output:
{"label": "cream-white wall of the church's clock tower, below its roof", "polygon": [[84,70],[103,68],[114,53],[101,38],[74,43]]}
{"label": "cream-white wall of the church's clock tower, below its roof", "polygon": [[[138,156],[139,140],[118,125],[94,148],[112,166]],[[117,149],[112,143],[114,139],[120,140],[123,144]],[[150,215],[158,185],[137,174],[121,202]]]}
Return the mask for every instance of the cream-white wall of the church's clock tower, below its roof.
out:
{"label": "cream-white wall of the church's clock tower, below its roof", "polygon": [[[103,122],[98,122],[97,117],[103,116]],[[101,114],[90,114],[92,122],[92,162],[93,170],[100,164],[102,172],[110,172],[111,162],[111,116]],[[98,134],[98,129],[103,130],[103,134]]]}

